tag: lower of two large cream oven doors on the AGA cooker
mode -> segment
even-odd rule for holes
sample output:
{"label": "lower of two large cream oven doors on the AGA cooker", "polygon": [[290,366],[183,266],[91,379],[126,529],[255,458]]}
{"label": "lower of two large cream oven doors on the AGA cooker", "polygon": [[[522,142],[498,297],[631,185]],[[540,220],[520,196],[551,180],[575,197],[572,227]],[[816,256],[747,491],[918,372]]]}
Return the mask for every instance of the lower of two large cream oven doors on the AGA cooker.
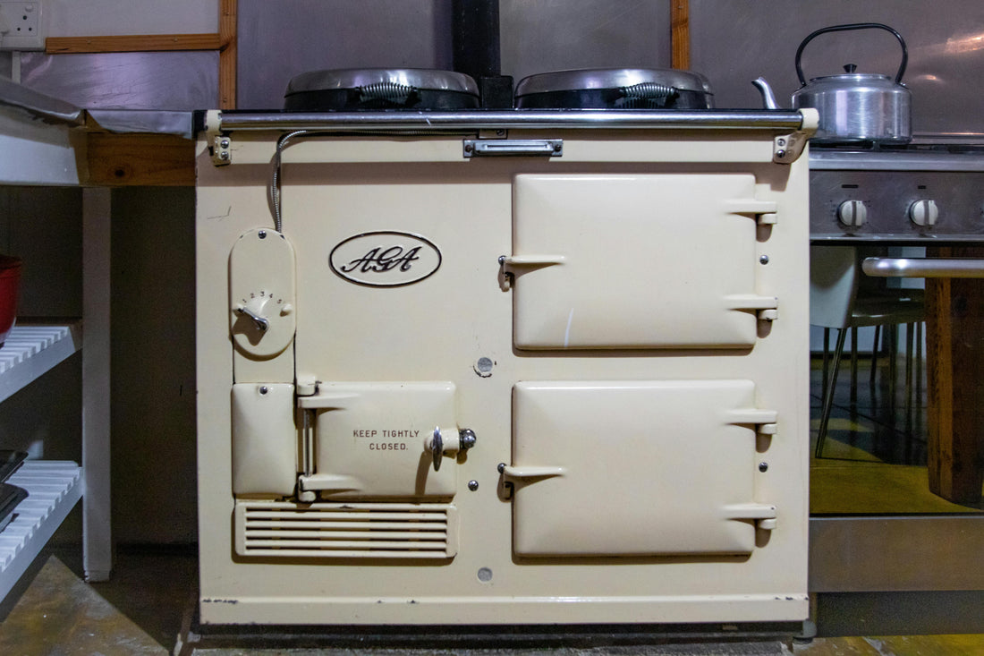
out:
{"label": "lower of two large cream oven doors on the AGA cooker", "polygon": [[518,556],[750,554],[775,524],[750,380],[522,382],[513,404]]}

